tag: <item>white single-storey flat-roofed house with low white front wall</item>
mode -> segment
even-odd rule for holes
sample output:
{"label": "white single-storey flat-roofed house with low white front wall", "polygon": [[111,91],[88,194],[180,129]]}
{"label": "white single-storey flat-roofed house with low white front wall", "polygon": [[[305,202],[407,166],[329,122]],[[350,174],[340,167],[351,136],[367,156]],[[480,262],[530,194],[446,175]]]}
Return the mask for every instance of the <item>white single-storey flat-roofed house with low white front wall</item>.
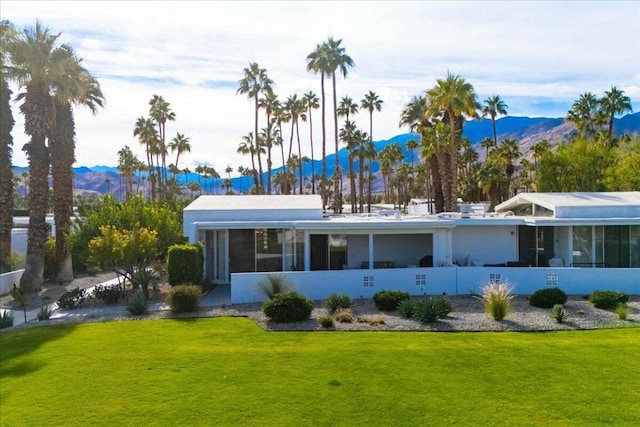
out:
{"label": "white single-storey flat-roofed house with low white front wall", "polygon": [[232,303],[262,300],[255,283],[275,272],[314,299],[466,294],[491,281],[523,294],[640,293],[640,192],[527,193],[466,211],[325,215],[317,195],[201,196],[184,232],[204,244],[205,275],[231,284]]}

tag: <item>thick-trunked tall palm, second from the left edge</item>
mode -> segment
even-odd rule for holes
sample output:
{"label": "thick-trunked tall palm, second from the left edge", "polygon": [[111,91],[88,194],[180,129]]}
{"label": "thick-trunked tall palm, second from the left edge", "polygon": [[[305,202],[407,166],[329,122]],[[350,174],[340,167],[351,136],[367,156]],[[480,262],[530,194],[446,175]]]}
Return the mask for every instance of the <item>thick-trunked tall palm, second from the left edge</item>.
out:
{"label": "thick-trunked tall palm, second from the left edge", "polygon": [[40,287],[44,273],[44,244],[47,238],[45,215],[49,185],[49,151],[46,137],[55,125],[55,105],[50,92],[64,81],[76,59],[68,47],[57,46],[59,34],[52,34],[40,22],[26,28],[7,46],[12,67],[8,78],[25,87],[20,111],[24,115],[25,133],[30,140],[23,148],[29,158],[31,191],[29,192],[29,232],[25,272],[20,280],[23,290]]}

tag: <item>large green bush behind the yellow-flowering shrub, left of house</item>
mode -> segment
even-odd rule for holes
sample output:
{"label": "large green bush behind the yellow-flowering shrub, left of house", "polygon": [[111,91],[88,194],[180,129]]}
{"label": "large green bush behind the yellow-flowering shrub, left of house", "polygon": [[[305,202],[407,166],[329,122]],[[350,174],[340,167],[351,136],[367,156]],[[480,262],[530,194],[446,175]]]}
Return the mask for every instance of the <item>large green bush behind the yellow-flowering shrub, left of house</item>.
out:
{"label": "large green bush behind the yellow-flowering shrub, left of house", "polygon": [[106,195],[92,202],[80,201],[74,231],[68,243],[73,266],[84,271],[88,266],[89,242],[100,236],[100,227],[112,225],[118,230],[146,228],[157,233],[156,252],[164,258],[169,246],[184,242],[182,208],[178,202],[161,204],[140,196],[118,203]]}

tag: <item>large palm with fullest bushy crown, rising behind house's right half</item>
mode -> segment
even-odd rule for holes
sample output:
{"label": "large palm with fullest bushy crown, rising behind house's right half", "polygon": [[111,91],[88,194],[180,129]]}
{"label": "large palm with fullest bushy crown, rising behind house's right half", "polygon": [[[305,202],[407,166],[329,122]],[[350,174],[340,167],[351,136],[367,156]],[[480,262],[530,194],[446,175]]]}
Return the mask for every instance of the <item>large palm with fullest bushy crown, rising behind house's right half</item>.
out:
{"label": "large palm with fullest bushy crown, rising behind house's right half", "polygon": [[445,196],[445,209],[456,211],[458,208],[458,152],[460,150],[460,135],[465,117],[477,117],[477,110],[480,108],[476,100],[476,93],[473,86],[464,78],[447,73],[446,79],[436,80],[436,86],[428,92],[431,107],[434,112],[442,115],[442,119],[447,123],[449,130],[448,155],[449,163],[452,166],[448,170],[440,169],[442,174],[449,175],[448,187],[443,185]]}

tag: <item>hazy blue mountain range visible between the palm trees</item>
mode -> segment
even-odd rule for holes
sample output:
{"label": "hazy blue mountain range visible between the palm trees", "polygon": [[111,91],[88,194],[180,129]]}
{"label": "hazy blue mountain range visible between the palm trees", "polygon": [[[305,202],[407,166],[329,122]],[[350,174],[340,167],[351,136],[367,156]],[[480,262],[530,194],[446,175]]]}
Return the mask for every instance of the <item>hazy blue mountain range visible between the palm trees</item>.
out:
{"label": "hazy blue mountain range visible between the palm trees", "polygon": [[[569,140],[573,132],[575,132],[575,126],[572,123],[565,122],[563,118],[506,116],[496,120],[498,143],[505,139],[517,140],[520,144],[520,152],[523,153],[525,157],[528,156],[531,146],[538,141],[546,139],[551,146],[554,147],[563,141]],[[615,119],[614,132],[616,136],[622,134],[640,135],[640,113],[628,114],[619,119]],[[480,148],[479,143],[484,138],[493,138],[491,120],[483,118],[468,121],[463,128],[463,136],[468,138],[474,147],[476,147],[479,159],[484,160],[485,150]],[[396,135],[388,140],[374,141],[374,144],[376,151],[380,151],[389,144],[398,143],[404,151],[405,160],[412,162],[418,160],[418,153],[411,153],[406,149],[405,144],[411,139],[419,138],[420,136],[418,134],[405,133]],[[343,170],[347,170],[348,152],[346,148],[340,149],[337,155],[338,164]],[[327,176],[331,176],[335,171],[335,156],[336,154],[327,156]],[[322,162],[320,160],[316,160],[313,165],[311,162],[305,163],[303,166],[303,175],[311,176],[312,170],[315,171],[316,174],[319,174],[321,167]],[[377,162],[374,162],[372,169],[374,173],[379,173],[379,165]],[[16,176],[21,177],[28,168],[16,166],[13,170]],[[78,194],[106,194],[108,192],[120,194],[121,192],[120,176],[118,168],[115,166],[79,166],[73,170],[75,172],[74,185]],[[274,169],[273,173],[275,174],[280,170],[282,170],[282,168]],[[196,173],[190,173],[186,176],[185,174],[181,174],[178,176],[178,181],[182,185],[184,185],[185,181],[199,182],[201,179],[202,177]],[[231,181],[234,190],[239,192],[246,192],[253,184],[252,178],[247,176],[235,177],[232,178]],[[377,179],[375,182],[377,183],[377,187],[381,187],[381,179]],[[348,184],[346,183],[346,185]],[[212,187],[211,193],[222,194],[223,191],[220,188],[220,182],[216,181],[212,183]],[[207,188],[207,190],[209,189]],[[380,190],[381,188],[374,187],[374,191]],[[24,194],[24,186],[20,185],[18,191]]]}

